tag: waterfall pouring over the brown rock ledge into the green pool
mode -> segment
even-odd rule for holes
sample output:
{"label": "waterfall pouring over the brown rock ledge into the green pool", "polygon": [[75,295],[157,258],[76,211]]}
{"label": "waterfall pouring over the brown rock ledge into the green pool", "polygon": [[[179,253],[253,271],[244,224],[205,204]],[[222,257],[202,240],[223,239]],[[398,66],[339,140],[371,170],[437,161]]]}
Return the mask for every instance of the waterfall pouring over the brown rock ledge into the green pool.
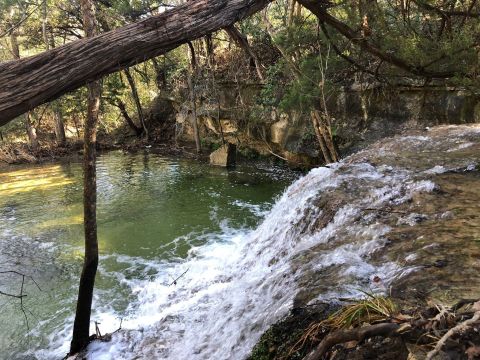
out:
{"label": "waterfall pouring over the brown rock ledge into the green pool", "polygon": [[[477,166],[479,128],[442,129],[313,169],[258,228],[226,226],[184,261],[150,263],[154,278],[122,278],[137,300],[111,342],[90,345],[92,358],[243,359],[293,306],[389,291],[417,269],[408,254],[386,256],[392,226],[416,223],[409,207],[438,190],[436,174]],[[99,317],[102,327],[118,327],[113,312]]]}

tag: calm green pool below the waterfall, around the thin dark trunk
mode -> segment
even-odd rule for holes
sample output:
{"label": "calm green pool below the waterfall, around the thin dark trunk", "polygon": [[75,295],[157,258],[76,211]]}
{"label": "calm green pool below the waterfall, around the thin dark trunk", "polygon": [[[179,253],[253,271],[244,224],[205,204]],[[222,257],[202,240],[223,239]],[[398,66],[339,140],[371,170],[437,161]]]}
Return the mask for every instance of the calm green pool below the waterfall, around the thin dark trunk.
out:
{"label": "calm green pool below the waterfall, around the thin dark trunk", "polygon": [[[193,285],[192,277],[214,276],[219,263],[188,269],[185,259],[198,258],[206,248],[228,247],[248,233],[296,176],[151,154],[108,153],[97,167],[100,266],[93,320],[102,332],[115,330],[121,318],[125,328],[151,323],[162,316],[161,308],[154,310],[160,299],[168,303],[186,283]],[[80,163],[0,172],[0,271],[25,273],[41,289],[26,278],[28,328],[19,301],[0,296],[1,359],[54,359],[68,351],[83,253],[82,214]],[[187,269],[177,286],[169,286]],[[152,280],[157,300],[145,298],[143,288]],[[0,274],[4,292],[18,294],[21,282],[17,274]],[[151,306],[150,314],[145,306]]]}

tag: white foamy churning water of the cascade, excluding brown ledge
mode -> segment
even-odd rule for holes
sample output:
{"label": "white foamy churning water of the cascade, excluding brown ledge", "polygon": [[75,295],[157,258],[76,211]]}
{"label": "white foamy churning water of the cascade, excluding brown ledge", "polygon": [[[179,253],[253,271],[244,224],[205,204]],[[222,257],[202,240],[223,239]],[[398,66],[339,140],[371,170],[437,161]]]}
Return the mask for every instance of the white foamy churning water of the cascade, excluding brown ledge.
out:
{"label": "white foamy churning water of the cascade, excluding brown ledge", "polygon": [[[433,188],[433,182],[416,181],[406,170],[339,163],[314,169],[292,184],[256,230],[225,225],[206,245],[192,248],[186,260],[118,258],[154,269],[157,275],[112,275],[136,300],[122,330],[111,342],[92,343],[89,358],[243,359],[268,326],[288,313],[302,290],[314,294],[308,301],[359,296],[363,290],[376,291],[374,276],[382,278],[380,290],[386,290],[408,269],[370,260],[385,245],[390,229],[368,210],[401,204]],[[326,226],[315,225],[327,211],[319,201],[337,197],[344,201],[332,209],[332,219]],[[325,275],[329,269],[335,269],[330,277]],[[311,285],[306,274],[325,283]],[[113,309],[97,310],[93,320],[104,332],[118,327]],[[36,356],[66,353],[70,331],[70,326],[59,331],[52,347]]]}

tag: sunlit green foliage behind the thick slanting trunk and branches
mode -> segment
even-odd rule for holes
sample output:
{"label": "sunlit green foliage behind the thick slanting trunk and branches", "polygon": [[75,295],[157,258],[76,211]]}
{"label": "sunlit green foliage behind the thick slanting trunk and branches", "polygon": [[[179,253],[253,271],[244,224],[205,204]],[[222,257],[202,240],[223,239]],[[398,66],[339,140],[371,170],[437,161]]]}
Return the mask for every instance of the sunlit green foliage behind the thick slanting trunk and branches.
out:
{"label": "sunlit green foliage behind the thick slanting trunk and branches", "polygon": [[[396,56],[414,69],[453,72],[455,76],[444,80],[446,86],[461,87],[480,96],[480,22],[464,15],[449,15],[449,12],[465,12],[469,7],[472,13],[478,14],[480,4],[466,0],[452,2],[447,6],[440,0],[422,0],[409,3],[406,10],[401,2],[392,1],[362,1],[353,4],[334,0],[331,3],[328,13],[348,26],[357,39],[376,46],[387,56]],[[17,37],[21,57],[37,54],[45,51],[47,46],[60,46],[83,36],[77,1],[46,0],[45,4],[47,16],[44,19],[41,1],[0,1],[0,34],[5,35],[0,38],[0,61],[12,58],[12,43],[8,34],[12,29]],[[101,31],[155,14],[161,4],[154,0],[97,2]],[[290,4],[291,1],[277,0],[268,7],[266,13],[255,14],[237,24],[261,60],[262,71],[266,76],[255,104],[242,110],[239,122],[244,121],[242,125],[245,128],[264,126],[270,120],[273,108],[297,114],[308,114],[312,109],[328,110],[342,86],[351,85],[355,81],[428,83],[431,80],[412,75],[395,64],[380,60],[331,26],[325,26],[325,34],[318,19],[306,9],[289,18]],[[265,19],[268,19],[268,24]],[[48,44],[43,36],[44,21]],[[228,62],[234,64],[231,65],[233,67],[237,66],[235,61],[242,50],[233,45],[224,32],[217,32],[213,39],[217,61],[214,77],[215,81],[221,81],[225,69],[230,65]],[[212,74],[206,66],[202,40],[193,43],[199,65],[196,89],[201,99],[204,94],[210,96],[213,93]],[[186,47],[179,47],[156,60],[155,66],[147,61],[131,69],[144,108],[161,91],[170,97],[186,99],[185,75],[191,71]],[[237,81],[246,73],[255,73],[251,70],[246,66],[237,67],[233,69],[232,77]],[[166,84],[162,89],[157,87],[156,80],[159,77]],[[85,97],[85,89],[79,89],[56,102],[55,106],[60,108],[67,126],[81,125]],[[102,126],[105,131],[123,123],[116,106],[118,101],[125,104],[130,117],[136,118],[131,89],[120,73],[104,78],[102,98]],[[42,109],[36,111],[41,112]],[[46,129],[52,128],[50,115],[49,108],[41,124],[45,124]],[[12,125],[3,130],[20,131],[21,127]],[[312,136],[313,133],[305,134],[305,137]]]}

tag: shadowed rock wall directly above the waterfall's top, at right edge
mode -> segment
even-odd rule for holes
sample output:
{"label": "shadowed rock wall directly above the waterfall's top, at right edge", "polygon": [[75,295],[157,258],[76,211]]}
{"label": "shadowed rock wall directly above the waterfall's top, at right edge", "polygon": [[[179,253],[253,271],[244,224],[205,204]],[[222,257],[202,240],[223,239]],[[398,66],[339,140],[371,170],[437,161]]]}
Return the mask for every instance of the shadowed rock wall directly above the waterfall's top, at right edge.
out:
{"label": "shadowed rock wall directly above the waterfall's top, at right edge", "polygon": [[404,130],[480,122],[479,98],[440,86],[352,86],[337,97],[334,108],[343,153]]}

